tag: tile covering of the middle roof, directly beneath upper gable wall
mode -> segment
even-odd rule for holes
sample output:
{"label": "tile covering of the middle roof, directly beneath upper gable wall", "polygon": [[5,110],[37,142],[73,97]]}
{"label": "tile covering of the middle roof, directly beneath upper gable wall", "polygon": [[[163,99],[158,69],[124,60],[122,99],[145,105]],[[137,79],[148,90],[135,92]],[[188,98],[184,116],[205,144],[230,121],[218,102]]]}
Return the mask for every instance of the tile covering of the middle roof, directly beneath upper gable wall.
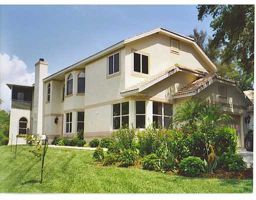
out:
{"label": "tile covering of the middle roof, directly beneath upper gable wall", "polygon": [[139,89],[143,86],[145,86],[146,84],[152,82],[153,80],[156,80],[157,78],[175,70],[175,69],[183,69],[183,70],[187,70],[187,71],[190,71],[190,72],[193,72],[193,73],[197,73],[197,74],[200,74],[200,75],[205,75],[207,74],[206,72],[204,71],[200,71],[200,70],[196,70],[196,69],[192,69],[192,68],[189,68],[189,67],[186,67],[186,66],[183,66],[183,65],[180,65],[180,64],[174,64],[152,76],[149,76],[148,78],[136,83],[136,84],[133,84],[132,86],[122,90],[120,93],[123,93],[123,92],[127,92],[127,91],[132,91],[132,90],[136,90],[136,89]]}

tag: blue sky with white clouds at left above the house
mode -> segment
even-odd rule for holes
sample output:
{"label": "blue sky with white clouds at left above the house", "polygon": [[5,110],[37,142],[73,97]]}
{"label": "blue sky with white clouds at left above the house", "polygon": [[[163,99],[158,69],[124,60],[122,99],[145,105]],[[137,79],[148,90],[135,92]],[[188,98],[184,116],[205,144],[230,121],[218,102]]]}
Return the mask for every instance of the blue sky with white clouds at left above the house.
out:
{"label": "blue sky with white clouds at left above the house", "polygon": [[184,35],[197,27],[212,35],[210,20],[197,20],[196,5],[1,5],[0,108],[10,107],[5,83],[33,83],[39,58],[48,62],[50,75],[158,26]]}

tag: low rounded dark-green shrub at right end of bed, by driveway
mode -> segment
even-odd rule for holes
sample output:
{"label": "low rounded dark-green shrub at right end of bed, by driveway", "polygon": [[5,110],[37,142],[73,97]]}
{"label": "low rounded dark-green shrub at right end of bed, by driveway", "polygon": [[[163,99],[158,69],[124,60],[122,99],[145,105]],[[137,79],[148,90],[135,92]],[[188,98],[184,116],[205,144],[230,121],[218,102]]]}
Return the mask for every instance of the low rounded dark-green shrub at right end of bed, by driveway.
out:
{"label": "low rounded dark-green shrub at right end of bed, by driveway", "polygon": [[218,157],[217,166],[218,168],[227,169],[229,171],[242,171],[246,169],[246,164],[242,160],[242,157],[232,152],[224,152]]}

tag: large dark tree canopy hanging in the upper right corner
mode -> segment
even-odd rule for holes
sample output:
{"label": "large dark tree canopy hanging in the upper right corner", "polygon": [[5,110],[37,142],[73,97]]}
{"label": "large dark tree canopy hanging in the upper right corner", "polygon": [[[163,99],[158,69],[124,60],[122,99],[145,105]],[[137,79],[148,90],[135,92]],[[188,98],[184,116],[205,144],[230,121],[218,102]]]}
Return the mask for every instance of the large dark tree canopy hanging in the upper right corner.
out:
{"label": "large dark tree canopy hanging in the upper right corner", "polygon": [[211,48],[222,47],[223,63],[236,64],[246,74],[253,72],[254,64],[254,5],[198,5],[198,20],[212,16]]}

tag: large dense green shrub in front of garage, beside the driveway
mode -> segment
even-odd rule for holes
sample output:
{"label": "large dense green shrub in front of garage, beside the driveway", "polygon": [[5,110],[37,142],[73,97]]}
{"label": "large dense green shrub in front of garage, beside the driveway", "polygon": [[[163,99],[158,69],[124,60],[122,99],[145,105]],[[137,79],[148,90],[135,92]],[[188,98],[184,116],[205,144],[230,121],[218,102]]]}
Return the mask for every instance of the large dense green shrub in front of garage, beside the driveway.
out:
{"label": "large dense green shrub in front of garage, beside the driveway", "polygon": [[216,129],[213,145],[217,155],[221,155],[223,152],[235,153],[237,149],[237,135],[235,129],[221,126]]}

